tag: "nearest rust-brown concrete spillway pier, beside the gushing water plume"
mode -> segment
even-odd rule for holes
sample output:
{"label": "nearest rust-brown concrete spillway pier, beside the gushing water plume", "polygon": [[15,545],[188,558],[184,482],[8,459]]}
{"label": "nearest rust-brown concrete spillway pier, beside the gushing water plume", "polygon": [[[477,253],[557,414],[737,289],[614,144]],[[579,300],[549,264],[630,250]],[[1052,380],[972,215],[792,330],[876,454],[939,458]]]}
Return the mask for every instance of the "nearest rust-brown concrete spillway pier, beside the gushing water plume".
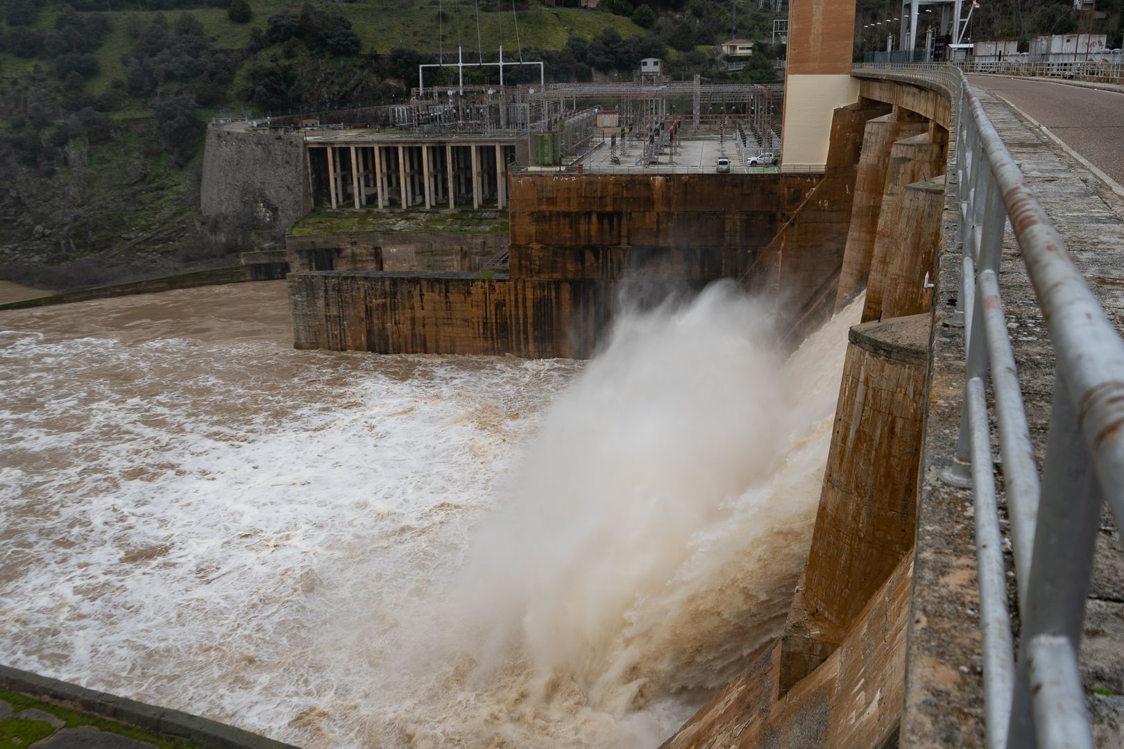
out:
{"label": "nearest rust-brown concrete spillway pier, beside the gushing water plume", "polygon": [[804,583],[843,630],[914,545],[928,338],[927,313],[850,331]]}

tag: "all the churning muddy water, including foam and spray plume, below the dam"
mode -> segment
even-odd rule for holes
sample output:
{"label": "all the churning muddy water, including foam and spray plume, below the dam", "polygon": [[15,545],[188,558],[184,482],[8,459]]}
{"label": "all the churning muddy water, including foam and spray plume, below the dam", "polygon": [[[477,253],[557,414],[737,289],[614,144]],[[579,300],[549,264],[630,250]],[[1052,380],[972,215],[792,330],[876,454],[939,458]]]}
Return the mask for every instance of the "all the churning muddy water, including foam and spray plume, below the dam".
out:
{"label": "all the churning muddy water, including foam and spray plume, below the dam", "polygon": [[254,289],[0,317],[9,665],[307,747],[654,746],[776,634],[854,307],[785,362],[718,285],[582,367],[293,351]]}

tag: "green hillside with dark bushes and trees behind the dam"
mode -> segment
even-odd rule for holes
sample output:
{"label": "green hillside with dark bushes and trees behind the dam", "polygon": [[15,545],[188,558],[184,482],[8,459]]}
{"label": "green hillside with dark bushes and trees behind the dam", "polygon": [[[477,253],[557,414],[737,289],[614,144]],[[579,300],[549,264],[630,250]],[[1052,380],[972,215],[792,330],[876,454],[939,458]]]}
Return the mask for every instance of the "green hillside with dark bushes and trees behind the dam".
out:
{"label": "green hillside with dark bushes and trees behind the dam", "polygon": [[[1124,34],[1121,3],[1098,2],[1107,18],[1093,29],[1114,46]],[[0,0],[0,277],[83,285],[91,274],[119,280],[237,249],[239,238],[209,234],[198,214],[209,118],[401,102],[418,64],[451,62],[459,46],[465,62],[493,62],[502,44],[507,60],[543,61],[558,82],[627,76],[646,56],[662,57],[677,79],[777,80],[770,58],[783,51],[769,43],[787,2],[580,4]],[[891,6],[861,0],[858,26]],[[1025,39],[1075,22],[1069,0],[997,0],[977,11],[971,30]],[[758,43],[744,70],[727,71],[716,54],[731,36]],[[495,68],[465,71],[468,82],[496,79]],[[505,72],[508,82],[536,79],[529,66]]]}

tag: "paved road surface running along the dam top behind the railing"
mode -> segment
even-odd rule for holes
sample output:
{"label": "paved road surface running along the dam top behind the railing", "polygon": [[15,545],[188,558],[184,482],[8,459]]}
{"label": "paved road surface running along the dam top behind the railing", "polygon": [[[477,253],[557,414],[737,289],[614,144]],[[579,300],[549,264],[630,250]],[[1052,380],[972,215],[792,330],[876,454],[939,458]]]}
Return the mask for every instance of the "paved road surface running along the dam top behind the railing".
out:
{"label": "paved road surface running along the dam top behind the railing", "polygon": [[1030,115],[1124,185],[1124,93],[1000,75],[969,75],[968,81]]}

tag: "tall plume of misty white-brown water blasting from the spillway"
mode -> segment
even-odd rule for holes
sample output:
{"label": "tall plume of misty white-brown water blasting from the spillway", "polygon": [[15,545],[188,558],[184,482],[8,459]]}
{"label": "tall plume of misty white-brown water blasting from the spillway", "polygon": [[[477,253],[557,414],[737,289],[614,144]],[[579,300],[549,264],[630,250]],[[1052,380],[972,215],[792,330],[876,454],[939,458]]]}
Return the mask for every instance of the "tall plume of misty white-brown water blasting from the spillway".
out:
{"label": "tall plume of misty white-brown water blasting from the spillway", "polygon": [[453,664],[508,723],[465,742],[654,746],[779,633],[861,303],[788,360],[734,284],[616,321],[409,625],[402,668]]}

